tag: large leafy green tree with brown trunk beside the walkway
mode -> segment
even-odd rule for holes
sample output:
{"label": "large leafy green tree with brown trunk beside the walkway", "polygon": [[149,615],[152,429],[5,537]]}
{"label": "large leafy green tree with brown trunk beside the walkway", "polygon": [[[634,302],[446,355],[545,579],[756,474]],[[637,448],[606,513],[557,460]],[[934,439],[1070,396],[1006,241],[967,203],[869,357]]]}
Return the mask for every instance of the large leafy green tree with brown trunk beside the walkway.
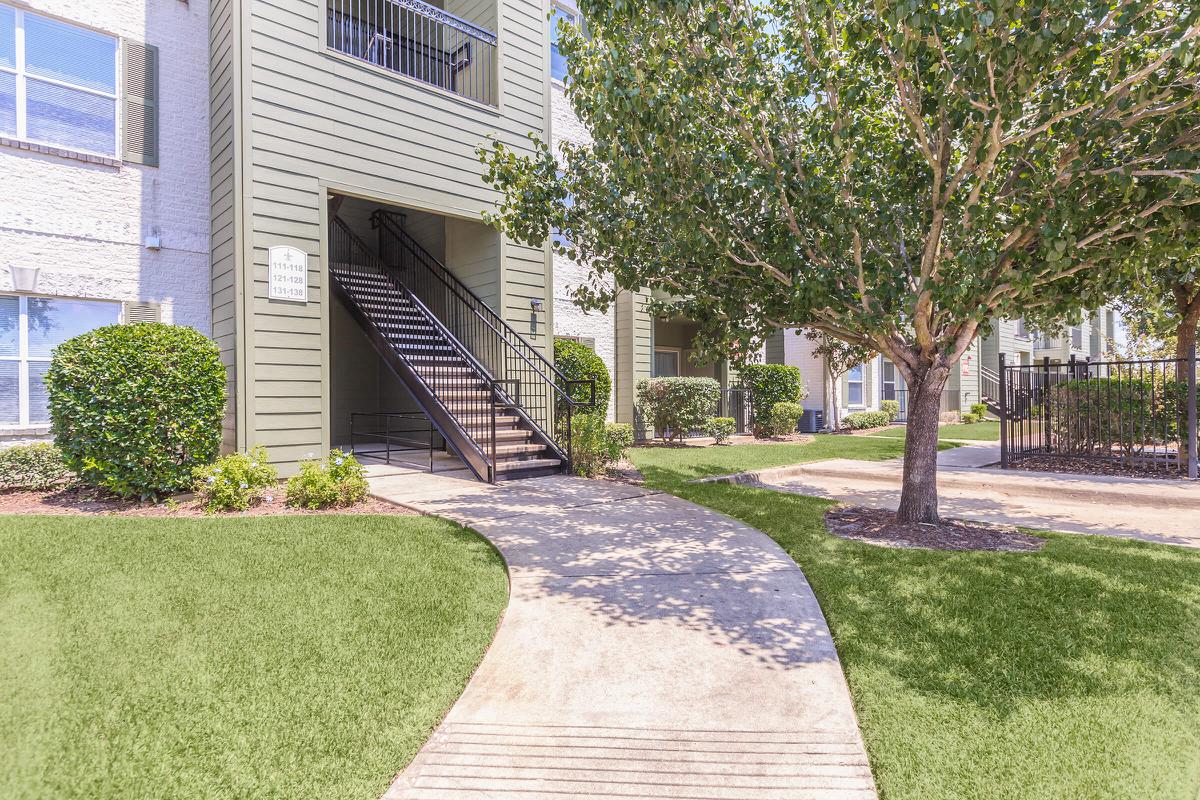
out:
{"label": "large leafy green tree with brown trunk beside the walkway", "polygon": [[492,143],[493,221],[684,297],[707,349],[809,327],[886,354],[904,521],[937,521],[940,398],[980,326],[1066,312],[1200,201],[1194,2],[580,6],[559,47],[592,140]]}

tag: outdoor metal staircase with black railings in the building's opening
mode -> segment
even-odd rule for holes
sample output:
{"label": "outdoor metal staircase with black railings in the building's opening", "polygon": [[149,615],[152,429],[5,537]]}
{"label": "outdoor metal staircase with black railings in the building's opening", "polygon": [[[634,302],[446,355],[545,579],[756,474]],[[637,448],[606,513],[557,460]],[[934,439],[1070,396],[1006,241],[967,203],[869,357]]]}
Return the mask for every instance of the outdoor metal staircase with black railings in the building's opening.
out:
{"label": "outdoor metal staircase with black railings in the building's opening", "polygon": [[568,380],[390,215],[372,223],[378,254],[332,219],[334,294],[448,446],[488,482],[569,470],[595,381]]}

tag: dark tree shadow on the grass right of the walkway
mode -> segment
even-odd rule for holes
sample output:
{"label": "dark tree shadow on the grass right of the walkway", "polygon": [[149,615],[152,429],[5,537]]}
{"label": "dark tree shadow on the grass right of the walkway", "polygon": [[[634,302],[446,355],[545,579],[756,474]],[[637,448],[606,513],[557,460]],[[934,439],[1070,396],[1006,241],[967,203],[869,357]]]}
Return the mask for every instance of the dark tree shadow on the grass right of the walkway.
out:
{"label": "dark tree shadow on the grass right of the walkway", "polygon": [[[653,479],[652,479],[653,480]],[[770,535],[809,578],[847,668],[1003,712],[1024,699],[1195,693],[1200,553],[1050,534],[1037,553],[902,551],[824,530],[832,501],[680,487]]]}

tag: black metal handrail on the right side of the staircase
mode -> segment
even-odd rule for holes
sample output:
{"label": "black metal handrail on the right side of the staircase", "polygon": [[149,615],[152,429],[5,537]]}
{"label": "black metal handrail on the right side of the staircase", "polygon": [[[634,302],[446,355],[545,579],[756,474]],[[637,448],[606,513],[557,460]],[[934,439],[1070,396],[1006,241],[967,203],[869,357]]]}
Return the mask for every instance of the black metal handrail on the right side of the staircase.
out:
{"label": "black metal handrail on the right side of the staircase", "polygon": [[[451,335],[485,365],[506,399],[544,437],[570,456],[571,419],[595,407],[596,381],[564,375],[541,350],[414,240],[396,219],[377,210],[379,253],[397,270],[397,281],[438,317]],[[584,399],[577,389],[586,389]]]}

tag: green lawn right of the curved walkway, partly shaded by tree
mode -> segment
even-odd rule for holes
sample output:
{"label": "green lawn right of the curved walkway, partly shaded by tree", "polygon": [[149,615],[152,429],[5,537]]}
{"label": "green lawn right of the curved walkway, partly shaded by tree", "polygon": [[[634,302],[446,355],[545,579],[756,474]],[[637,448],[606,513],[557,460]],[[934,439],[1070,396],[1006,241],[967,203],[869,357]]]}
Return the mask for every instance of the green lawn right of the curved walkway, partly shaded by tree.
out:
{"label": "green lawn right of the curved walkway, partly shaded by tree", "polygon": [[826,533],[824,500],[684,483],[714,459],[762,461],[725,450],[632,458],[650,485],[755,525],[804,570],[883,800],[1200,795],[1200,553],[1054,534],[1024,554],[850,542]]}

